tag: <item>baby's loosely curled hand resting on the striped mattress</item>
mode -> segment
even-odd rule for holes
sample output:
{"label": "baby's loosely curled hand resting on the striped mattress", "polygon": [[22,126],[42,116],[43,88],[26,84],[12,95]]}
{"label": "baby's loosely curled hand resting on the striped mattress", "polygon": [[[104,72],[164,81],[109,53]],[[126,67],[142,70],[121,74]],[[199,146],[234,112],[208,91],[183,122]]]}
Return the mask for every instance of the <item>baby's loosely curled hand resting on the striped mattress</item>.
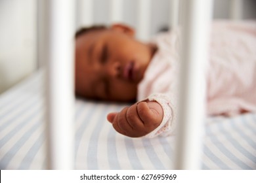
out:
{"label": "baby's loosely curled hand resting on the striped mattress", "polygon": [[160,125],[163,109],[156,101],[142,101],[107,116],[117,132],[129,137],[142,137]]}

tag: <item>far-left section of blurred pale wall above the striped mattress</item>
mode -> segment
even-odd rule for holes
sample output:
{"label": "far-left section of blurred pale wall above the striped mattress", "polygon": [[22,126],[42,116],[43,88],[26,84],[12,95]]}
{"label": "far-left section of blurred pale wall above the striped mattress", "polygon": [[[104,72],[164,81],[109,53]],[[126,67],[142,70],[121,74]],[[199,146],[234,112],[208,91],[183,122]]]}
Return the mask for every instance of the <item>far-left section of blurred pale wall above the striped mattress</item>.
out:
{"label": "far-left section of blurred pale wall above the striped mattress", "polygon": [[35,70],[35,3],[0,0],[0,93]]}

